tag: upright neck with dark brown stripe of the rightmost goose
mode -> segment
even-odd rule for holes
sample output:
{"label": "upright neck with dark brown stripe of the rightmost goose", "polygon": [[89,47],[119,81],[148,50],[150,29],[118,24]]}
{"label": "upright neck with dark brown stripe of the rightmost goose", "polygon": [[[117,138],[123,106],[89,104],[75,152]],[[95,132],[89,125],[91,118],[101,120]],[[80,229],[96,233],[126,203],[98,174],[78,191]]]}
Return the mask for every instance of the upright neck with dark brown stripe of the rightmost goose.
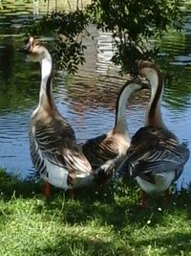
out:
{"label": "upright neck with dark brown stripe of the rightmost goose", "polygon": [[164,127],[165,125],[161,116],[161,100],[163,91],[163,82],[160,71],[150,70],[146,74],[151,84],[151,98],[145,117],[145,126]]}

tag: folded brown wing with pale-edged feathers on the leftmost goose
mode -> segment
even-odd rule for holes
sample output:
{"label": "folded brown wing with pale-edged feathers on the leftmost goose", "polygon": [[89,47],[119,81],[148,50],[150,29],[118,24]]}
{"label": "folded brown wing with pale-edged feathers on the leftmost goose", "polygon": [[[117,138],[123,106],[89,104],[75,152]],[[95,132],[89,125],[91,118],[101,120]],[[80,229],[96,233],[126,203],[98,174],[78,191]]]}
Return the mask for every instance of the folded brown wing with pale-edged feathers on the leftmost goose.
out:
{"label": "folded brown wing with pale-edged feathers on the leftmost goose", "polygon": [[76,147],[73,128],[64,122],[38,121],[35,125],[32,154],[33,159],[46,159],[55,166],[67,169],[69,173],[81,174],[92,171],[89,161]]}

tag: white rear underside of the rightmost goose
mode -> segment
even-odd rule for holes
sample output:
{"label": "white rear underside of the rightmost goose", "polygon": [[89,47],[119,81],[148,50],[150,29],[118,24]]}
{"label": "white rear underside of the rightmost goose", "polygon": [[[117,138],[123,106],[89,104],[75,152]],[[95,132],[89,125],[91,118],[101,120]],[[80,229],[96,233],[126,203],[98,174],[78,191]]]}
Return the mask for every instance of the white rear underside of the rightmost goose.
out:
{"label": "white rear underside of the rightmost goose", "polygon": [[155,184],[150,183],[138,176],[136,177],[136,179],[138,181],[139,187],[147,194],[159,194],[169,188],[174,177],[175,177],[175,172],[172,171],[172,172],[156,174]]}

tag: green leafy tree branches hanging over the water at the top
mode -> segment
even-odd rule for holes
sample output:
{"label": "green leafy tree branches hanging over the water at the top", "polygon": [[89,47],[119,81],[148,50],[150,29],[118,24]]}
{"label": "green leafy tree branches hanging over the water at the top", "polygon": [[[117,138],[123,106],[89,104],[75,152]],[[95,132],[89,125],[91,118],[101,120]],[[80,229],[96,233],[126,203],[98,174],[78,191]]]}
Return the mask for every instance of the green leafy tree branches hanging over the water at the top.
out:
{"label": "green leafy tree branches hanging over the water at the top", "polygon": [[58,64],[74,73],[85,61],[82,39],[93,23],[113,33],[112,60],[126,73],[138,58],[155,58],[158,49],[149,44],[151,38],[161,37],[169,28],[180,31],[184,22],[181,5],[181,0],[92,0],[83,11],[53,12],[36,20],[32,33],[56,33]]}

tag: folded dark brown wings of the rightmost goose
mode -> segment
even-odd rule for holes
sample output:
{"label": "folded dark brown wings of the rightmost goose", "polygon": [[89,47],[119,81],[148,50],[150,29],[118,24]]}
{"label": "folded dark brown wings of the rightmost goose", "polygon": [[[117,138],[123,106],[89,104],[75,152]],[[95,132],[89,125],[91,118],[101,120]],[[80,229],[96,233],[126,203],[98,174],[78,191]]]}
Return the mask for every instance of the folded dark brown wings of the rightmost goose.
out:
{"label": "folded dark brown wings of the rightmost goose", "polygon": [[171,131],[145,127],[138,129],[132,137],[126,161],[132,175],[137,176],[182,170],[188,157],[189,150]]}

